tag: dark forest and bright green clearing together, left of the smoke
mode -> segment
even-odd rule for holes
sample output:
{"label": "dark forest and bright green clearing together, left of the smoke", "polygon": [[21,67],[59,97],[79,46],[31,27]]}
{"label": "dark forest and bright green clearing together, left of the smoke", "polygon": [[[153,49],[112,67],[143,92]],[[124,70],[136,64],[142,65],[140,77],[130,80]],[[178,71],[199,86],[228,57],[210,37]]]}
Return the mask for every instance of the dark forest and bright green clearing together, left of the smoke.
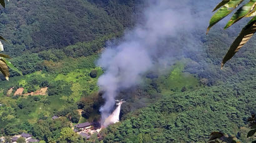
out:
{"label": "dark forest and bright green clearing together, left of the smoke", "polygon": [[[122,29],[132,25],[130,14],[135,5],[127,6],[127,11],[122,12],[121,16],[127,16],[124,16],[125,19],[118,19],[108,14],[106,10],[109,7],[96,1],[52,1],[51,4],[49,1],[17,2],[8,2],[7,9],[0,14],[0,27],[11,40],[6,52],[15,56],[10,62],[17,67],[10,72],[13,80],[0,83],[4,89],[0,94],[0,103],[4,104],[0,107],[0,128],[4,131],[1,134],[14,135],[29,131],[46,142],[56,141],[62,127],[69,127],[69,122],[58,123],[49,118],[65,108],[76,106],[81,96],[91,95],[98,90],[97,78],[89,76],[91,70],[97,71],[97,75],[103,72],[94,65],[97,53],[107,40],[120,35]],[[113,1],[111,7],[119,6],[119,3]],[[35,6],[39,8],[34,9]],[[53,14],[52,10],[57,13]],[[121,11],[116,9],[115,12]],[[19,76],[17,69],[25,76]],[[74,77],[72,74],[76,72],[79,74]],[[61,76],[66,77],[59,78]],[[49,96],[7,97],[7,90],[11,87],[14,87],[12,95],[20,87],[24,88],[24,93],[48,87]],[[91,104],[89,107],[96,108],[95,104]],[[97,110],[99,106],[100,103],[97,103]],[[74,108],[65,116],[73,122],[78,122],[80,118]],[[86,141],[79,138],[79,142]]]}

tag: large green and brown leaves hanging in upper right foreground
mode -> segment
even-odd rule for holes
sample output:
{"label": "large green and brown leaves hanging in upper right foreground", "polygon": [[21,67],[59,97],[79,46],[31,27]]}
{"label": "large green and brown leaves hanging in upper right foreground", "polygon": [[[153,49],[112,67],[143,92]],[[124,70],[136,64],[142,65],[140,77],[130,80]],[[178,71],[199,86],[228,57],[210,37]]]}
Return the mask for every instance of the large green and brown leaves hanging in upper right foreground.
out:
{"label": "large green and brown leaves hanging in upper right foreground", "polygon": [[[207,28],[207,33],[210,28],[217,24],[220,20],[224,19],[224,17],[228,16],[235,8],[237,8],[244,0],[222,0],[214,9],[214,16],[210,19],[209,27]],[[224,29],[229,28],[231,25],[235,24],[235,22],[239,21],[244,17],[253,17],[247,25],[245,25],[244,29],[240,32],[237,39],[234,40],[233,44],[230,46],[229,51],[226,53],[225,57],[222,60],[221,67],[232,58],[236,52],[240,50],[241,47],[246,44],[249,39],[256,32],[256,1],[250,0],[242,7],[240,7],[235,14],[231,17],[230,21],[225,25]]]}

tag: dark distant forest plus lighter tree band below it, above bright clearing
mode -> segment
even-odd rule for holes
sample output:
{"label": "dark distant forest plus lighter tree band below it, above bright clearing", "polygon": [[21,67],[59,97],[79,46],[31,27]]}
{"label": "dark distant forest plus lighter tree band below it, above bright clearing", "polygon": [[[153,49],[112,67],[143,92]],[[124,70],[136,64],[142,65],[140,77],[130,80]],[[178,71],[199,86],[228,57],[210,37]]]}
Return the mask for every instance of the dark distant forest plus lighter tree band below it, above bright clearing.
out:
{"label": "dark distant forest plus lighter tree band below it, above bright clearing", "polygon": [[24,74],[42,70],[42,60],[90,55],[132,26],[134,11],[129,1],[10,1],[0,16],[1,33],[11,41],[5,52]]}

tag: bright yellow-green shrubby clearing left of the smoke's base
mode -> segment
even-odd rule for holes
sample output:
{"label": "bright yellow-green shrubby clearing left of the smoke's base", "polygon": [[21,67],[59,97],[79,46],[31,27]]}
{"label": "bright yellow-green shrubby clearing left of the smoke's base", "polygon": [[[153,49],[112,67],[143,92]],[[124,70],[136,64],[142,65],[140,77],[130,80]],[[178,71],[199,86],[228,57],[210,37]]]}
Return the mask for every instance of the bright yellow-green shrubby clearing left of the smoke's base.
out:
{"label": "bright yellow-green shrubby clearing left of the smoke's base", "polygon": [[[97,70],[99,75],[103,72],[101,68],[91,68],[95,67],[94,60],[88,59],[95,58],[96,56],[84,57],[80,59],[85,63],[77,63],[78,60],[70,63],[72,66],[77,64],[75,68],[80,68],[75,71],[73,71],[74,68],[69,68],[69,65],[66,65],[62,66],[61,70],[54,70],[52,74],[45,71],[37,71],[22,77],[15,76],[9,82],[1,82],[1,88],[9,89],[14,86],[14,91],[19,87],[25,88],[27,92],[47,86],[47,94],[49,95],[14,96],[13,98],[7,98],[4,95],[3,98],[0,98],[1,104],[7,104],[6,108],[0,107],[0,128],[4,129],[4,134],[14,135],[22,131],[30,131],[37,139],[56,141],[60,136],[61,128],[69,127],[69,120],[78,122],[81,118],[76,111],[76,102],[80,100],[81,96],[88,96],[88,94],[98,89],[96,85],[97,78],[89,76],[91,70]],[[59,62],[62,61],[60,60]],[[62,69],[65,70],[63,71]],[[61,74],[62,71],[65,75]],[[59,72],[58,75],[56,75],[57,72]],[[93,90],[90,90],[90,87],[93,87]],[[72,102],[70,103],[64,97],[71,99]],[[94,101],[96,100],[92,102]],[[94,103],[90,104],[94,105]],[[97,103],[97,111],[101,104]],[[66,123],[58,123],[56,119],[49,119],[53,114],[64,116]],[[57,126],[54,124],[60,124],[61,127],[54,128],[53,126]],[[79,141],[83,141],[83,139]]]}

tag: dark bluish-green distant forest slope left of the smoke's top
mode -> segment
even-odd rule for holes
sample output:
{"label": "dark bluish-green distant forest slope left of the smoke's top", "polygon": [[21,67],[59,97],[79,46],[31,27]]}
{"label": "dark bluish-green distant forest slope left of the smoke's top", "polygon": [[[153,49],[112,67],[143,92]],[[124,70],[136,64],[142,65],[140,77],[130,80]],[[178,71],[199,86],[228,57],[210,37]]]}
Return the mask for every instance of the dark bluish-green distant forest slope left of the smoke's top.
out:
{"label": "dark bluish-green distant forest slope left of the smoke's top", "polygon": [[[126,11],[123,11],[116,8],[123,5],[119,5],[122,2],[112,1],[111,7],[119,14],[116,17],[109,14],[111,7],[104,7],[100,3],[101,1],[58,0],[50,3],[19,2],[17,6],[17,1],[8,2],[6,10],[0,15],[3,21],[0,27],[4,28],[4,32],[9,35],[7,38],[12,41],[7,52],[10,55],[22,55],[25,49],[36,53],[46,49],[60,49],[77,42],[88,42],[104,35],[117,34],[132,25],[130,20],[135,4],[126,6]],[[38,8],[34,9],[35,6]],[[19,30],[15,30],[16,27]]]}

